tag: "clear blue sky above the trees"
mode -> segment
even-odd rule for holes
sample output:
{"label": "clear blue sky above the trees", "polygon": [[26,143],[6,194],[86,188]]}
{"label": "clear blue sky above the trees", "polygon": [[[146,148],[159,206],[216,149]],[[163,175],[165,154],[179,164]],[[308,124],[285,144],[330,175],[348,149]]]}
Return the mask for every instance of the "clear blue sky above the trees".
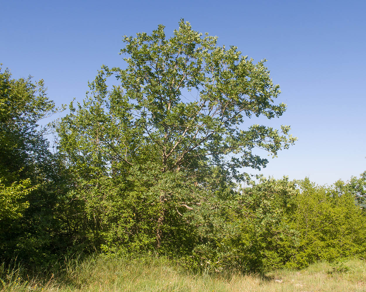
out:
{"label": "clear blue sky above the trees", "polygon": [[0,63],[14,78],[43,78],[58,105],[82,100],[102,64],[123,66],[123,35],[160,23],[169,35],[184,18],[268,59],[288,105],[271,124],[290,124],[299,140],[262,173],[332,184],[366,170],[365,12],[352,0],[2,1]]}

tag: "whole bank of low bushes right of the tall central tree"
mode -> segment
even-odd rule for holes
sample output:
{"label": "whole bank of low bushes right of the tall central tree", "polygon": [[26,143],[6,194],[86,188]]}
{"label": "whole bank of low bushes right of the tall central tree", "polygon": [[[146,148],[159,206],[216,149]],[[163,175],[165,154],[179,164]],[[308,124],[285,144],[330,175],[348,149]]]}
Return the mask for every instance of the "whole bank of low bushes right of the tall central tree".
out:
{"label": "whole bank of low bushes right of the tall central tree", "polygon": [[336,185],[261,178],[215,200],[215,212],[208,209],[201,223],[212,225],[199,234],[203,242],[194,247],[189,265],[258,271],[364,257],[365,215],[352,192],[340,193]]}

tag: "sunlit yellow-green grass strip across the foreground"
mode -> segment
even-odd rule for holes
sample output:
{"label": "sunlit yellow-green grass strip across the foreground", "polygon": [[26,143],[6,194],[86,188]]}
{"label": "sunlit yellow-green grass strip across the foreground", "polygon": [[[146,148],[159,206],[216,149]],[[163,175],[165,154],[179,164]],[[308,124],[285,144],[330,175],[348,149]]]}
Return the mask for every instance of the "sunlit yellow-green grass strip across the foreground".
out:
{"label": "sunlit yellow-green grass strip across the foreground", "polygon": [[[314,264],[304,270],[266,274],[192,274],[158,259],[96,257],[68,261],[47,279],[21,268],[1,267],[1,291],[301,291],[366,292],[366,262]],[[58,275],[58,276],[57,276]]]}

